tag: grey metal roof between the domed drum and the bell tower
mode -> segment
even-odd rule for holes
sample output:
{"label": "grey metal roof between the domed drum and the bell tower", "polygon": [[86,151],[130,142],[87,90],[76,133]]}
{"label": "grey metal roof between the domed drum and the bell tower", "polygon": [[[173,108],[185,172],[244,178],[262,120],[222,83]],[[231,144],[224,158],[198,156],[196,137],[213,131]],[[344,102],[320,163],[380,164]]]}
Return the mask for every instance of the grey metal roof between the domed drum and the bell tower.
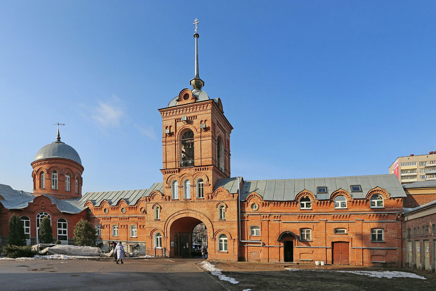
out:
{"label": "grey metal roof between the domed drum and the bell tower", "polygon": [[141,197],[147,197],[155,190],[162,193],[163,183],[154,183],[149,189],[88,192],[78,200],[78,203],[84,206],[88,200],[91,200],[94,206],[98,206],[103,200],[106,200],[111,206],[115,206],[121,199],[124,199],[128,205],[135,205]]}

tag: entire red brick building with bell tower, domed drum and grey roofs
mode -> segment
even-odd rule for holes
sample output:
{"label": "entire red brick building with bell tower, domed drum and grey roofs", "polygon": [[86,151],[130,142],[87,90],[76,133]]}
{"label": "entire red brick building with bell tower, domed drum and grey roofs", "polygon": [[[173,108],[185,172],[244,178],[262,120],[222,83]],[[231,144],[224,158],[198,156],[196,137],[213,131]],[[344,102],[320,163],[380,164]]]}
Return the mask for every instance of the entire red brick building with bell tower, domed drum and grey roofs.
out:
{"label": "entire red brick building with bell tower, domed drum and grey roofs", "polygon": [[65,144],[56,152],[50,145],[59,139],[31,164],[33,194],[0,187],[3,243],[12,213],[29,217],[29,239],[36,242],[37,215],[44,212],[52,217],[54,238],[61,233],[65,243],[64,233],[71,239],[72,227],[86,217],[102,247],[122,241],[148,253],[189,257],[207,243],[209,259],[403,264],[405,192],[395,175],[232,178],[233,127],[221,100],[202,91],[197,62],[191,85],[159,109],[162,181],[81,195],[80,158]]}

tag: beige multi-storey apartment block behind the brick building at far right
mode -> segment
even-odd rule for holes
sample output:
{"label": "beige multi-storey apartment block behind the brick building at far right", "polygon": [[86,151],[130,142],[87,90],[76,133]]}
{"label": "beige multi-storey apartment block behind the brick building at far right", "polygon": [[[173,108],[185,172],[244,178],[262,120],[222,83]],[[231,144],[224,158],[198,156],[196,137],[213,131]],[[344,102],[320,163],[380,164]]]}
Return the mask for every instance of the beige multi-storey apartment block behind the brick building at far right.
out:
{"label": "beige multi-storey apartment block behind the brick building at far right", "polygon": [[436,151],[427,155],[398,157],[390,165],[389,173],[395,174],[403,186],[417,181],[436,180]]}

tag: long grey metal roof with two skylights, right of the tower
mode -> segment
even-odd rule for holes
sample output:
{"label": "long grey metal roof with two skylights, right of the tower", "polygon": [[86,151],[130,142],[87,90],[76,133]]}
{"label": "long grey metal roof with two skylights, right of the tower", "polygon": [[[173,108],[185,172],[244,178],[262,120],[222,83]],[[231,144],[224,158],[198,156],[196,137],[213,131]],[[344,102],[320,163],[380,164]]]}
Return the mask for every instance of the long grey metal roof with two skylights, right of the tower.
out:
{"label": "long grey metal roof with two skylights, right of the tower", "polygon": [[[238,178],[220,179],[215,189],[222,186],[230,193],[237,192]],[[352,192],[350,185],[360,185],[362,192]],[[317,194],[319,186],[327,186],[327,193]],[[308,178],[308,179],[280,179],[280,180],[253,180],[244,181],[241,187],[240,200],[243,201],[252,192],[261,195],[268,201],[292,201],[304,189],[309,190],[318,200],[329,199],[336,190],[348,191],[353,198],[362,199],[375,187],[388,191],[391,197],[405,197],[405,192],[400,181],[395,175],[349,176],[333,178]]]}

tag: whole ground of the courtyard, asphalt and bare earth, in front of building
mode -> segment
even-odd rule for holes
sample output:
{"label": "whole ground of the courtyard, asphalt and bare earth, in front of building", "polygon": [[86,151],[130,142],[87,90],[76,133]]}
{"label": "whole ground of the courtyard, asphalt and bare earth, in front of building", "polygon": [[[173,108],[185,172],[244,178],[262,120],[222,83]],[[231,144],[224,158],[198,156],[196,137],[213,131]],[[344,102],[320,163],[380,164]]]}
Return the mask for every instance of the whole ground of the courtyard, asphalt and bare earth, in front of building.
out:
{"label": "whole ground of the courtyard, asphalt and bare earth, in front of building", "polygon": [[[0,282],[2,291],[436,290],[434,273],[409,269],[209,261],[214,268],[222,270],[211,275],[195,265],[202,261],[126,259],[125,264],[117,265],[108,259],[0,260]],[[412,277],[379,278],[339,271],[371,271],[371,274],[400,271]],[[226,277],[224,281],[219,280],[218,275],[233,278],[238,283],[232,284]]]}

